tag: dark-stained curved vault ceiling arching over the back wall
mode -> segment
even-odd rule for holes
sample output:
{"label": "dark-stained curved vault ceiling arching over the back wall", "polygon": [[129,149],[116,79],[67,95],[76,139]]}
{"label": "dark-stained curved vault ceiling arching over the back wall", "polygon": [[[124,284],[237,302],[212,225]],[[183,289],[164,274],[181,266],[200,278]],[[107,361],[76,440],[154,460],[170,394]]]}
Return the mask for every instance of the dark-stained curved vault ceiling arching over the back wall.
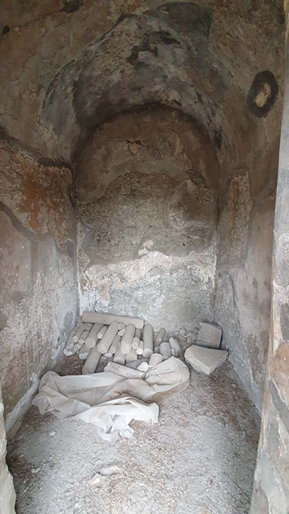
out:
{"label": "dark-stained curved vault ceiling arching over the back wall", "polygon": [[[68,62],[46,91],[39,119],[51,131],[53,144],[57,136],[58,157],[75,157],[96,126],[146,103],[190,115],[208,132],[214,148],[220,150],[224,140],[234,159],[240,158],[244,143],[264,148],[254,117],[248,119],[246,113],[247,93],[260,62],[265,68],[273,65],[267,26],[251,12],[264,31],[258,40],[250,17],[234,19],[234,14],[210,4],[172,2],[121,17]],[[280,30],[277,20],[276,25]],[[244,124],[249,128],[246,141],[238,130]]]}

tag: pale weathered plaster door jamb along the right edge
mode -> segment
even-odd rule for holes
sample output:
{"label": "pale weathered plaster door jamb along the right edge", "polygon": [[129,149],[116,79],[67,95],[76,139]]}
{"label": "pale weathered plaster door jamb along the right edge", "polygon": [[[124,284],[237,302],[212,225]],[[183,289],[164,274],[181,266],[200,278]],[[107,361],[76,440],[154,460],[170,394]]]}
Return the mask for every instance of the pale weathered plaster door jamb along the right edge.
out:
{"label": "pale weathered plaster door jamb along the right edge", "polygon": [[[288,11],[288,4],[285,3]],[[288,12],[286,13],[288,16]],[[288,18],[287,18],[288,22]],[[268,368],[251,514],[289,512],[289,74],[285,94],[274,221],[273,295]]]}

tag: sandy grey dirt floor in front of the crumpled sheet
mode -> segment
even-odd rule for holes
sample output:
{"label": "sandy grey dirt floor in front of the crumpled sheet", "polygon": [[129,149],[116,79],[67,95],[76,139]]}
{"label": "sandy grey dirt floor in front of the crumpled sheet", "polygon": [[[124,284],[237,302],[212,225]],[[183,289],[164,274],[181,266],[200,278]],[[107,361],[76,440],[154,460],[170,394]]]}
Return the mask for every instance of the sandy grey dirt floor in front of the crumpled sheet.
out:
{"label": "sandy grey dirt floor in front of the crumpled sheet", "polygon": [[[56,371],[79,373],[68,359]],[[132,426],[136,443],[107,443],[31,407],[8,443],[17,514],[248,512],[259,417],[230,364],[191,371],[187,389],[161,401],[158,424]]]}

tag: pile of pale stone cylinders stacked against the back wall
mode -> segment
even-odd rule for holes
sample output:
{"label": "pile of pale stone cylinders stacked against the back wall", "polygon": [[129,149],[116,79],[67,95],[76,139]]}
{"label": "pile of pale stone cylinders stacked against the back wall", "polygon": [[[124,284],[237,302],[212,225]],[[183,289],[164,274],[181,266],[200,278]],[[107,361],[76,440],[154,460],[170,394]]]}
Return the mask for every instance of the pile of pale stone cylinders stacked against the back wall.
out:
{"label": "pile of pale stone cylinders stacked against the back wall", "polygon": [[85,375],[96,372],[102,356],[110,361],[107,371],[113,371],[114,365],[127,365],[146,373],[162,360],[178,356],[178,340],[170,337],[167,342],[165,336],[166,330],[161,328],[154,337],[153,326],[139,318],[84,311],[69,335],[64,354],[78,353],[85,360]]}

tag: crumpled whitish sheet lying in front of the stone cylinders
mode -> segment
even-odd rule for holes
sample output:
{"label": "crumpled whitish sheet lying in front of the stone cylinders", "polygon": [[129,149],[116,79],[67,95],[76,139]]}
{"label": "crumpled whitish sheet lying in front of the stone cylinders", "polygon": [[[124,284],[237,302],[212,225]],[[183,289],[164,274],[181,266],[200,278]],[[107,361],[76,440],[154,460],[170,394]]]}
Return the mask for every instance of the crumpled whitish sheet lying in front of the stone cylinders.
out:
{"label": "crumpled whitish sheet lying in front of the stone cylinders", "polygon": [[188,382],[189,376],[186,364],[176,357],[151,368],[146,379],[128,379],[111,372],[61,377],[48,371],[32,405],[41,414],[51,412],[60,419],[92,423],[105,440],[119,436],[134,439],[133,419],[157,423],[158,405],[147,401]]}

